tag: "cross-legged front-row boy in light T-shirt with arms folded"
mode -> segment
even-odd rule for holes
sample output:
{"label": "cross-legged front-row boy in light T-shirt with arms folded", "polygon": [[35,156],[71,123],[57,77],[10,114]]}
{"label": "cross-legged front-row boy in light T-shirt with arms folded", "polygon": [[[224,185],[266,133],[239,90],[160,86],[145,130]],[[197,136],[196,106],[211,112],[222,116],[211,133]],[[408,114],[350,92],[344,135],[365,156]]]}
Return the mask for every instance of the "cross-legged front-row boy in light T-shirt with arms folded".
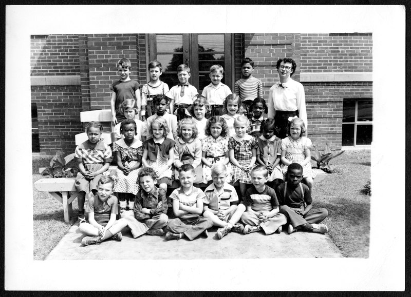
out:
{"label": "cross-legged front-row boy in light T-shirt with arms folded", "polygon": [[175,189],[170,195],[177,218],[169,220],[167,227],[170,232],[165,234],[165,240],[179,240],[184,235],[189,240],[193,240],[201,233],[208,237],[207,229],[213,226],[210,219],[200,217],[203,210],[204,192],[193,187],[196,176],[194,171],[194,167],[190,164],[184,164],[178,168],[181,187]]}

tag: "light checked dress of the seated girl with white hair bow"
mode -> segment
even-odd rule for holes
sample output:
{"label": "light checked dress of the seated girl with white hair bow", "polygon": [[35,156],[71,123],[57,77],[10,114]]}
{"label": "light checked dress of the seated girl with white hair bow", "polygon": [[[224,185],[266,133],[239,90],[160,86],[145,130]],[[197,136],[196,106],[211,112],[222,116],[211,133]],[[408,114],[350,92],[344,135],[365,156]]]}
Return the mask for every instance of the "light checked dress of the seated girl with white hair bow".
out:
{"label": "light checked dress of the seated girl with white hair bow", "polygon": [[[301,164],[305,158],[305,150],[311,147],[312,143],[307,137],[298,137],[297,140],[293,140],[291,136],[287,136],[281,141],[281,149],[286,150],[286,159],[292,163]],[[287,173],[287,165],[281,164],[281,170],[283,174]],[[308,162],[306,166],[303,167],[303,177],[314,178],[317,175],[315,170],[311,169],[311,162]]]}

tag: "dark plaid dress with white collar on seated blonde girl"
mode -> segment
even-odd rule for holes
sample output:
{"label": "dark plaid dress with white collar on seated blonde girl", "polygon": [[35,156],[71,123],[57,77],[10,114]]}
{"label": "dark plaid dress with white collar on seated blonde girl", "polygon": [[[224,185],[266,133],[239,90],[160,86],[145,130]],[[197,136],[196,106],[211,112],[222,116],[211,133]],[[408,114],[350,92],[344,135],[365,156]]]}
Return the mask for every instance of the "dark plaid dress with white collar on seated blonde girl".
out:
{"label": "dark plaid dress with white collar on seated blonde girl", "polygon": [[[251,135],[246,135],[244,138],[240,138],[237,135],[230,137],[228,141],[228,149],[234,150],[235,160],[240,165],[249,165],[251,163],[252,150],[258,150],[258,144],[255,138]],[[235,183],[239,180],[243,184],[251,184],[251,170],[255,167],[255,164],[248,170],[241,170],[234,164],[231,164],[233,179]]]}

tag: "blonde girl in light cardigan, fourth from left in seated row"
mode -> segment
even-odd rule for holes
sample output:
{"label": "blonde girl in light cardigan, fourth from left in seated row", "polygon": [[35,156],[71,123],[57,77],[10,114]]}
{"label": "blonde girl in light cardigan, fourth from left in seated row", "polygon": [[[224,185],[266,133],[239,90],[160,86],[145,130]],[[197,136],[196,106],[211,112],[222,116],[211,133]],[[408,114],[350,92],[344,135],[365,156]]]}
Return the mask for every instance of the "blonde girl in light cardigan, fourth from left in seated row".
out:
{"label": "blonde girl in light cardigan, fourth from left in seated row", "polygon": [[[174,166],[178,169],[183,164],[191,164],[195,169],[194,183],[202,181],[201,141],[197,138],[197,125],[192,118],[183,118],[177,124],[177,141],[174,146]],[[178,170],[175,170],[178,180]]]}

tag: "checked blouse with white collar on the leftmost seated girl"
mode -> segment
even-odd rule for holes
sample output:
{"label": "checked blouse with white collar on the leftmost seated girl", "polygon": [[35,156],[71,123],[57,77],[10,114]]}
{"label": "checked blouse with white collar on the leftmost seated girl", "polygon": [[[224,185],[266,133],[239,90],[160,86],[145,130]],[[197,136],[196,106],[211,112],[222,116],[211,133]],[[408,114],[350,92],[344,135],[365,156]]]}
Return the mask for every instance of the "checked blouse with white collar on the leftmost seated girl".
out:
{"label": "checked blouse with white collar on the leftmost seated girl", "polygon": [[87,140],[76,147],[74,158],[77,162],[83,162],[83,164],[110,163],[113,160],[113,153],[111,153],[110,147],[101,140],[94,148],[90,147]]}

